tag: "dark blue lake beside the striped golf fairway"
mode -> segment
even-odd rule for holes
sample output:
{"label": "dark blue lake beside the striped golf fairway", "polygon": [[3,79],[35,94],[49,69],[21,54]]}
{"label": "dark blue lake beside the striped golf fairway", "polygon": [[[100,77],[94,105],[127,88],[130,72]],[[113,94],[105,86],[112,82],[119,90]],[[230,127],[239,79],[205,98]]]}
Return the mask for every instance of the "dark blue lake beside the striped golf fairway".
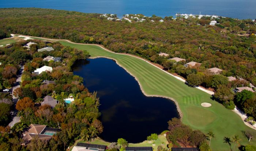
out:
{"label": "dark blue lake beside the striped golf fairway", "polygon": [[113,60],[88,59],[77,62],[72,69],[84,78],[84,85],[91,92],[98,92],[103,140],[116,142],[124,138],[129,143],[142,142],[151,133],[166,130],[167,121],[178,117],[171,100],[146,97],[135,78]]}

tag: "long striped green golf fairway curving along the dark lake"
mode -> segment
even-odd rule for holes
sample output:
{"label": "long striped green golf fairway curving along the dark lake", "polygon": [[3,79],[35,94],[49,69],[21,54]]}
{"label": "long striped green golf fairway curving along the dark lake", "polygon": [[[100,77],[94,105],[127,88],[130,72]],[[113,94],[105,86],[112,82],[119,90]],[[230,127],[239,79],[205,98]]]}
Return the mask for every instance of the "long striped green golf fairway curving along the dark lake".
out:
{"label": "long striped green golf fairway curving along the dark lake", "polygon": [[[242,131],[250,131],[256,136],[256,131],[247,127],[236,113],[226,109],[220,103],[212,101],[211,95],[197,88],[188,87],[184,82],[177,80],[146,61],[133,56],[111,53],[95,45],[72,44],[67,41],[59,42],[65,46],[86,50],[91,57],[113,58],[139,80],[146,94],[174,98],[183,113],[182,122],[184,124],[205,133],[208,131],[215,133],[215,138],[211,141],[213,151],[230,150],[228,144],[223,143],[223,137],[234,135],[241,137],[240,143],[242,145],[256,144],[256,139],[249,142],[242,133]],[[203,102],[211,103],[212,106],[202,107],[201,103]],[[233,146],[233,143],[231,145]]]}

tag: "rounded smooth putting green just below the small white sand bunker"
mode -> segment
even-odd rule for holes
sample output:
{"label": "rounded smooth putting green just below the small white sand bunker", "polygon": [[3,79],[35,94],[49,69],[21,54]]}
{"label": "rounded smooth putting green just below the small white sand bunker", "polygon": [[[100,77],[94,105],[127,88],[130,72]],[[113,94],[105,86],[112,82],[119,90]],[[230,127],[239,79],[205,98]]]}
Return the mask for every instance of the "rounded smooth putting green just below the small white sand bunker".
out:
{"label": "rounded smooth putting green just below the small white sand bunker", "polygon": [[187,107],[188,122],[194,127],[207,127],[217,119],[217,115],[197,106]]}

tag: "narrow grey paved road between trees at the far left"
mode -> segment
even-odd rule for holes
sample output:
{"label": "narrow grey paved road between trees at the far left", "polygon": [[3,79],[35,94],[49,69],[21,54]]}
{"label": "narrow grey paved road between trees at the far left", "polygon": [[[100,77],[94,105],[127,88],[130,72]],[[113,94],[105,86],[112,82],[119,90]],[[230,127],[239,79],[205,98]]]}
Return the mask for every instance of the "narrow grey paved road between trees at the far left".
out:
{"label": "narrow grey paved road between trees at the far left", "polygon": [[[17,76],[18,78],[17,78],[17,80],[16,80],[15,86],[12,87],[12,101],[14,102],[14,106],[16,106],[16,103],[17,103],[18,99],[14,97],[13,91],[14,91],[16,88],[20,87],[21,75],[22,75],[23,71],[24,71],[24,66],[22,66],[21,69],[19,70],[19,73],[18,73],[18,76]],[[10,127],[13,127],[14,124],[16,124],[16,123],[18,123],[18,122],[20,121],[20,117],[19,117],[19,116],[16,116],[17,113],[18,113],[18,111],[17,111],[16,109],[14,109],[14,112],[12,112],[12,117],[13,117],[13,119],[12,119],[12,121],[8,124]]]}

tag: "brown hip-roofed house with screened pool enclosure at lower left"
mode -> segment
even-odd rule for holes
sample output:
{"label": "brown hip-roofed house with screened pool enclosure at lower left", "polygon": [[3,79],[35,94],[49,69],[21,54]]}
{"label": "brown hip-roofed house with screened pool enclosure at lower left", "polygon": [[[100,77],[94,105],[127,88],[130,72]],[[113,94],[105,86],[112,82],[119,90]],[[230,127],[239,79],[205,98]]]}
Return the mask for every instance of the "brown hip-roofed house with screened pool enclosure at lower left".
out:
{"label": "brown hip-roofed house with screened pool enclosure at lower left", "polygon": [[46,125],[30,124],[28,131],[23,134],[24,144],[30,142],[30,140],[38,136],[40,140],[48,141],[54,134],[61,131],[57,128],[48,128]]}

